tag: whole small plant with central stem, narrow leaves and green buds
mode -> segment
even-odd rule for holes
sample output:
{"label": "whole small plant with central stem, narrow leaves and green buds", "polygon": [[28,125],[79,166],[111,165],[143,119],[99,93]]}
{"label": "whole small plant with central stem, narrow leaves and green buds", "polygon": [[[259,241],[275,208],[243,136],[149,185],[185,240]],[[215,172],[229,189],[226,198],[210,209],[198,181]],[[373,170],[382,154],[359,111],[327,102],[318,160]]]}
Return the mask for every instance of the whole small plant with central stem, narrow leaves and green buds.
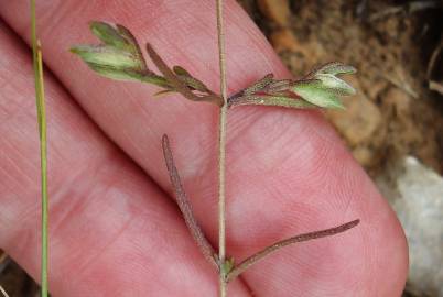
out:
{"label": "whole small plant with central stem, narrow leaves and green buds", "polygon": [[[218,268],[219,297],[227,296],[227,284],[229,280],[233,280],[269,254],[290,244],[338,234],[359,223],[359,220],[354,220],[335,228],[303,233],[281,240],[250,255],[237,265],[233,257],[227,257],[226,134],[228,108],[245,105],[278,106],[295,109],[344,108],[339,97],[354,95],[355,89],[346,81],[339,79],[339,76],[354,74],[356,69],[349,65],[332,62],[315,68],[299,80],[274,79],[272,74],[268,74],[250,87],[227,98],[223,10],[223,0],[216,0],[222,96],[217,96],[210,91],[201,80],[194,78],[183,67],[174,66],[171,69],[149,43],[147,44],[148,54],[163,76],[148,69],[133,35],[120,24],[95,21],[91,23],[90,29],[101,43],[98,45],[77,45],[72,47],[73,53],[78,54],[93,70],[105,77],[154,84],[164,89],[158,94],[179,92],[191,101],[210,102],[220,108],[218,123],[218,254],[215,253],[215,249],[210,245],[195,219],[192,206],[180,180],[177,168],[174,165],[168,136],[164,135],[162,140],[166,168],[185,223],[205,257]],[[104,48],[106,48],[105,52]]]}

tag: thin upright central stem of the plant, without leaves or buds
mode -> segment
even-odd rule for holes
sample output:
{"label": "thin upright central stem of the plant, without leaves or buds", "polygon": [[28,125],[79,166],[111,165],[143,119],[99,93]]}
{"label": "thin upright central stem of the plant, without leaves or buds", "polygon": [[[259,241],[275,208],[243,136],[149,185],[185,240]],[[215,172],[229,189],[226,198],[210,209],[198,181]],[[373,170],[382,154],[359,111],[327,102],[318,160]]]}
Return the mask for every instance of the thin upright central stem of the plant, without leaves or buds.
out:
{"label": "thin upright central stem of the plant, without leaves or buds", "polygon": [[218,260],[219,260],[219,297],[227,296],[227,272],[224,270],[226,261],[226,122],[227,122],[227,84],[225,32],[223,20],[223,0],[217,0],[217,36],[218,57],[220,68],[220,91],[223,106],[219,111],[218,123]]}

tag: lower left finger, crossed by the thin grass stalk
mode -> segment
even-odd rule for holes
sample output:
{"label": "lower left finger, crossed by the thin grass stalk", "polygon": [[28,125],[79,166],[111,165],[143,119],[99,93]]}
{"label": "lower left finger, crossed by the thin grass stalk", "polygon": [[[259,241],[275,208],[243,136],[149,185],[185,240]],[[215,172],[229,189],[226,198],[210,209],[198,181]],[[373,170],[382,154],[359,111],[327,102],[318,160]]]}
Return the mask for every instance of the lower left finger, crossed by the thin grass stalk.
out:
{"label": "lower left finger, crossed by the thin grass stalk", "polygon": [[[0,22],[0,246],[39,278],[40,163],[29,51]],[[215,296],[174,205],[45,77],[50,289],[55,296]],[[238,283],[238,296],[248,296]]]}

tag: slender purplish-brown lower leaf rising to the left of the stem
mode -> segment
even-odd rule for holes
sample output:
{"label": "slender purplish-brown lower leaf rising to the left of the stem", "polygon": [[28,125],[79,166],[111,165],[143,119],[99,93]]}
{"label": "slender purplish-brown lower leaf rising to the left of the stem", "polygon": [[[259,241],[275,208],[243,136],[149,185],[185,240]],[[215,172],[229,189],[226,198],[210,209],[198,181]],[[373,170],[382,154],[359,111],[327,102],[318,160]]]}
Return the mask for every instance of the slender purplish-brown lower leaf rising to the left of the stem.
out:
{"label": "slender purplish-brown lower leaf rising to the left of the stem", "polygon": [[202,229],[199,228],[198,222],[195,219],[194,212],[192,210],[190,200],[187,199],[186,193],[184,191],[182,182],[180,180],[180,175],[174,164],[174,158],[166,134],[164,134],[162,138],[162,147],[168,173],[170,175],[171,184],[175,191],[175,199],[180,210],[183,213],[186,226],[190,229],[192,237],[197,242],[197,245],[206,260],[218,267],[218,256],[215,253],[214,248],[210,245],[209,241],[206,239]]}

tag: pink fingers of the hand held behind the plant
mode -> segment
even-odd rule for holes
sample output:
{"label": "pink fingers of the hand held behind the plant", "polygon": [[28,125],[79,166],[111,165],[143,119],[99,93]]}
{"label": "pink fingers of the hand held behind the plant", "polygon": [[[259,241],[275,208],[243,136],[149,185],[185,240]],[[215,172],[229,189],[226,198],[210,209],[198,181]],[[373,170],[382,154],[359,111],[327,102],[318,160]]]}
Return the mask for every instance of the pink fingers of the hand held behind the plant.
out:
{"label": "pink fingers of the hand held behind the plant", "polygon": [[[28,11],[28,1],[0,0],[0,246],[37,277],[35,108],[30,55],[18,40],[29,42]],[[37,18],[53,73],[50,289],[216,296],[216,273],[174,206],[160,146],[168,133],[197,220],[216,245],[216,108],[180,96],[153,99],[154,87],[98,77],[67,52],[96,42],[88,21],[119,22],[166,63],[218,90],[213,1],[37,1]],[[225,22],[230,92],[267,73],[289,77],[235,1],[226,3]],[[227,154],[227,251],[238,261],[275,240],[361,220],[258,263],[229,285],[231,296],[401,295],[408,267],[401,227],[318,112],[234,109]]]}

